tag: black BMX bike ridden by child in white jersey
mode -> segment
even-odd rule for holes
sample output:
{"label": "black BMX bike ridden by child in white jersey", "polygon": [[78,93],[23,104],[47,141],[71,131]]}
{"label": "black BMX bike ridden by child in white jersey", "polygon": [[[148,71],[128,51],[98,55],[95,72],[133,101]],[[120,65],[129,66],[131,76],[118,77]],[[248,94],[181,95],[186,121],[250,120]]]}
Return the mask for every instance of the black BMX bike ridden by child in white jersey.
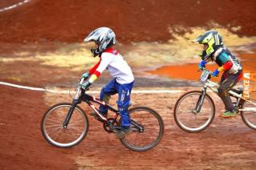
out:
{"label": "black BMX bike ridden by child in white jersey", "polygon": [[[50,107],[41,121],[41,132],[48,143],[59,148],[71,148],[85,139],[89,131],[89,119],[85,111],[78,106],[84,102],[97,113],[99,121],[103,123],[105,132],[118,132],[121,125],[121,115],[117,109],[102,102],[94,96],[86,94],[81,88],[81,79],[76,88],[76,95],[72,103],[57,103]],[[114,112],[113,117],[105,118],[93,105],[103,105]],[[132,131],[122,139],[121,143],[130,150],[143,152],[154,148],[163,137],[164,125],[161,116],[149,107],[132,107],[130,113],[130,128]]]}

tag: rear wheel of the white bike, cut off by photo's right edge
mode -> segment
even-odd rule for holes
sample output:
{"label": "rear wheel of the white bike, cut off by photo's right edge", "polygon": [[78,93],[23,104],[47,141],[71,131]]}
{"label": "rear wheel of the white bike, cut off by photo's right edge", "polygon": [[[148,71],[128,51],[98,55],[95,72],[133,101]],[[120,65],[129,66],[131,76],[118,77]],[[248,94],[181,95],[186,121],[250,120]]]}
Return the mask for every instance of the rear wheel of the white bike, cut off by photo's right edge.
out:
{"label": "rear wheel of the white bike, cut off by photo's right edge", "polygon": [[[252,101],[256,103],[255,100]],[[241,111],[242,121],[246,125],[256,130],[256,106],[250,102],[244,101],[241,107],[244,111]]]}

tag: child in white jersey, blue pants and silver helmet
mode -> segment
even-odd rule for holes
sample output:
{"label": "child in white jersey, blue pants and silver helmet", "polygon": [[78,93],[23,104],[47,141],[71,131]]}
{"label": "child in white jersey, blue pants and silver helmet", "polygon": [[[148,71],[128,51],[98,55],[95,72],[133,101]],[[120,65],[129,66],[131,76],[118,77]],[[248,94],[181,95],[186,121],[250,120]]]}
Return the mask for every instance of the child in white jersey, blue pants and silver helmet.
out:
{"label": "child in white jersey, blue pants and silver helmet", "polygon": [[[82,75],[82,78],[88,79],[82,84],[84,89],[88,89],[89,86],[101,75],[105,69],[107,69],[114,79],[101,89],[100,99],[105,103],[109,103],[110,95],[118,93],[118,111],[120,112],[122,123],[121,129],[116,134],[118,138],[126,136],[130,132],[130,116],[128,113],[128,107],[130,103],[130,92],[134,86],[134,75],[119,54],[114,49],[116,43],[116,36],[114,31],[108,27],[100,27],[93,30],[84,40],[84,42],[95,42],[96,48],[91,49],[93,57],[99,56],[100,61],[89,71]],[[100,106],[99,111],[101,115],[107,117],[107,108]],[[97,118],[97,114],[93,113],[93,116]]]}

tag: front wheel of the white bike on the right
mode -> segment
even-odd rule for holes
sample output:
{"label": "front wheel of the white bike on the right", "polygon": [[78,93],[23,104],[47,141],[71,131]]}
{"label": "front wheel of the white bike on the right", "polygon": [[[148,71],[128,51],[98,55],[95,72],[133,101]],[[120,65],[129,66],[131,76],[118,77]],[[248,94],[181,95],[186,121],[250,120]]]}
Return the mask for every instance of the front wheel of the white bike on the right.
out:
{"label": "front wheel of the white bike on the right", "polygon": [[175,103],[175,123],[185,132],[201,132],[213,122],[215,105],[209,95],[205,95],[200,112],[194,111],[201,93],[201,91],[188,91]]}

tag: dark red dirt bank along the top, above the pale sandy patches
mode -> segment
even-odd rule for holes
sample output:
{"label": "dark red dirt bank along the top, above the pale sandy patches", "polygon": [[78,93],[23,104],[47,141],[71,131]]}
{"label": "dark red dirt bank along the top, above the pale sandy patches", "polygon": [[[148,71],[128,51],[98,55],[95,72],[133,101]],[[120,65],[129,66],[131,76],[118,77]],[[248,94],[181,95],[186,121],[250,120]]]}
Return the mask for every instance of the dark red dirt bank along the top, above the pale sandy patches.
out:
{"label": "dark red dirt bank along the top, above the pale sandy patches", "polygon": [[[10,2],[0,5],[5,7]],[[237,34],[256,34],[254,0],[31,0],[0,13],[0,42],[82,42],[98,26],[113,28],[120,42],[162,41],[175,25],[207,26],[210,21]],[[209,27],[210,28],[210,27]],[[184,30],[176,30],[182,34]]]}

